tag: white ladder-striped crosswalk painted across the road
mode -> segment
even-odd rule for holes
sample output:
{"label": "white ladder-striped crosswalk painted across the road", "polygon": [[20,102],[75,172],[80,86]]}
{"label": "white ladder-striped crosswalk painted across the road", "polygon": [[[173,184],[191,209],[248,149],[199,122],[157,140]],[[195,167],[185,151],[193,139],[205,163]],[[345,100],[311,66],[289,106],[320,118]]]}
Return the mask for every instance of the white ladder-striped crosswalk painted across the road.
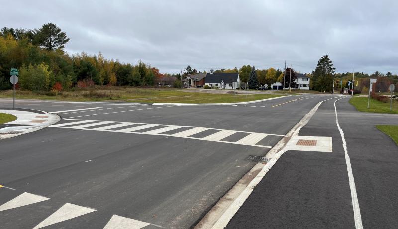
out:
{"label": "white ladder-striped crosswalk painted across the road", "polygon": [[[267,134],[267,133],[255,133],[247,131],[238,130],[225,130],[216,129],[208,127],[197,127],[197,126],[179,126],[179,125],[164,125],[164,124],[148,124],[148,123],[135,123],[135,122],[112,122],[112,121],[99,121],[99,120],[79,120],[79,119],[65,119],[67,121],[73,121],[68,123],[56,124],[50,127],[58,128],[70,128],[70,129],[82,129],[82,130],[92,130],[92,131],[106,131],[106,132],[121,132],[121,133],[132,133],[132,134],[147,134],[147,135],[160,135],[160,136],[172,136],[181,138],[198,139],[204,141],[214,141],[223,142],[238,145],[250,145],[258,146],[264,148],[271,148],[271,146],[258,144],[262,139],[266,138],[268,135],[281,136],[279,134]],[[95,122],[95,123],[92,123]],[[80,125],[79,125],[80,124]],[[88,128],[95,127],[97,125],[106,125],[98,128]],[[138,125],[132,126],[131,125]],[[123,128],[125,127],[125,128]],[[152,127],[157,127],[157,129],[150,129]],[[118,128],[117,130],[112,130]],[[178,131],[178,129],[180,129]],[[188,129],[187,129],[188,128]],[[148,129],[147,131],[145,131]],[[176,131],[173,131],[176,130]],[[205,133],[201,134],[200,137],[194,136],[195,134],[202,133],[206,130],[212,130],[207,135]],[[139,131],[139,132],[137,132]],[[173,131],[168,134],[167,132]],[[235,133],[247,133],[248,135],[238,139],[236,141],[223,141],[223,139],[235,134]],[[203,136],[204,135],[204,136]]]}

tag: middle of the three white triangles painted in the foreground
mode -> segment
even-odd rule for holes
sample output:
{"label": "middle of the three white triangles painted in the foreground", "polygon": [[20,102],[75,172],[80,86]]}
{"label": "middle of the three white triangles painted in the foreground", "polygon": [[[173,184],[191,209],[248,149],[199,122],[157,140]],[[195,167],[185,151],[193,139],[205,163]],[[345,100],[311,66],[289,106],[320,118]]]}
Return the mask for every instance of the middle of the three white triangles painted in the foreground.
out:
{"label": "middle of the three white triangles painted in the foreground", "polygon": [[70,220],[72,218],[82,216],[95,211],[97,210],[92,208],[82,207],[75,204],[66,203],[56,212],[54,212],[45,220],[43,220],[40,224],[36,225],[36,227],[34,227],[33,229],[43,228],[52,224],[56,224],[65,220]]}

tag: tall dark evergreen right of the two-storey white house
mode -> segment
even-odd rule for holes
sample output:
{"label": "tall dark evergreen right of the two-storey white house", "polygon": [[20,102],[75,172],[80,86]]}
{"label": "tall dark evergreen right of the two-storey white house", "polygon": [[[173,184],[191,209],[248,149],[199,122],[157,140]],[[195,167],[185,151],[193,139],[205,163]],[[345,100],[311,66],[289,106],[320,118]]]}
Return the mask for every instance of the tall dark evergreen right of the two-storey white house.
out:
{"label": "tall dark evergreen right of the two-storey white house", "polygon": [[332,91],[333,90],[333,73],[336,68],[333,67],[329,55],[324,55],[318,60],[318,65],[312,71],[313,90],[316,91]]}

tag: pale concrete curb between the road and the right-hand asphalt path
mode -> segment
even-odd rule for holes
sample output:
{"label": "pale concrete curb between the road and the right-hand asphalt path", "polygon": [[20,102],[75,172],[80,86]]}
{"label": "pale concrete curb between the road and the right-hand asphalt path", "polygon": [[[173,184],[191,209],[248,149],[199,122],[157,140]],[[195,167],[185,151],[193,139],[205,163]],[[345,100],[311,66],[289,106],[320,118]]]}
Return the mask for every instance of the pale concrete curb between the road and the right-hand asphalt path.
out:
{"label": "pale concrete curb between the road and the right-hand asphalt path", "polygon": [[[334,99],[336,97],[329,98]],[[227,210],[221,215],[221,217],[215,222],[215,224],[211,227],[211,229],[223,229],[227,226],[232,217],[236,214],[239,208],[243,205],[247,198],[249,198],[250,194],[253,192],[254,188],[260,183],[260,181],[264,178],[267,172],[272,168],[272,166],[276,163],[276,161],[287,151],[285,149],[285,145],[289,138],[293,135],[298,135],[298,132],[302,127],[304,127],[308,121],[312,118],[315,112],[318,110],[318,107],[326,100],[320,101],[314,108],[311,109],[286,135],[286,137],[282,138],[266,155],[267,158],[270,158],[270,161],[263,166],[261,171],[257,174],[257,176],[245,187],[245,189],[239,194],[239,196],[232,202],[232,204],[227,208]],[[281,147],[283,147],[281,149]],[[280,150],[281,149],[281,150]],[[261,162],[259,162],[261,163]],[[258,163],[258,164],[259,164]],[[255,167],[253,167],[255,168]],[[250,170],[249,172],[253,172]],[[238,181],[239,182],[239,181]],[[231,189],[232,190],[232,189]],[[215,207],[217,204],[215,205]],[[199,227],[200,228],[200,227]]]}

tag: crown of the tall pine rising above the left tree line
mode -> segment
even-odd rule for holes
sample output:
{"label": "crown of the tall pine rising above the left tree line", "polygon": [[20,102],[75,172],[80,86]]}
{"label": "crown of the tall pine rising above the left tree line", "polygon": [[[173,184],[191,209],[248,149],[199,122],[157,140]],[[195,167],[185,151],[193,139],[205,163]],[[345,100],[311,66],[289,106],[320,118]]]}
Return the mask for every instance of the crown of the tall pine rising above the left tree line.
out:
{"label": "crown of the tall pine rising above the left tree line", "polygon": [[53,23],[43,25],[40,29],[33,31],[34,43],[40,45],[47,50],[56,50],[65,48],[65,44],[68,43],[69,38],[65,32],[62,32]]}

